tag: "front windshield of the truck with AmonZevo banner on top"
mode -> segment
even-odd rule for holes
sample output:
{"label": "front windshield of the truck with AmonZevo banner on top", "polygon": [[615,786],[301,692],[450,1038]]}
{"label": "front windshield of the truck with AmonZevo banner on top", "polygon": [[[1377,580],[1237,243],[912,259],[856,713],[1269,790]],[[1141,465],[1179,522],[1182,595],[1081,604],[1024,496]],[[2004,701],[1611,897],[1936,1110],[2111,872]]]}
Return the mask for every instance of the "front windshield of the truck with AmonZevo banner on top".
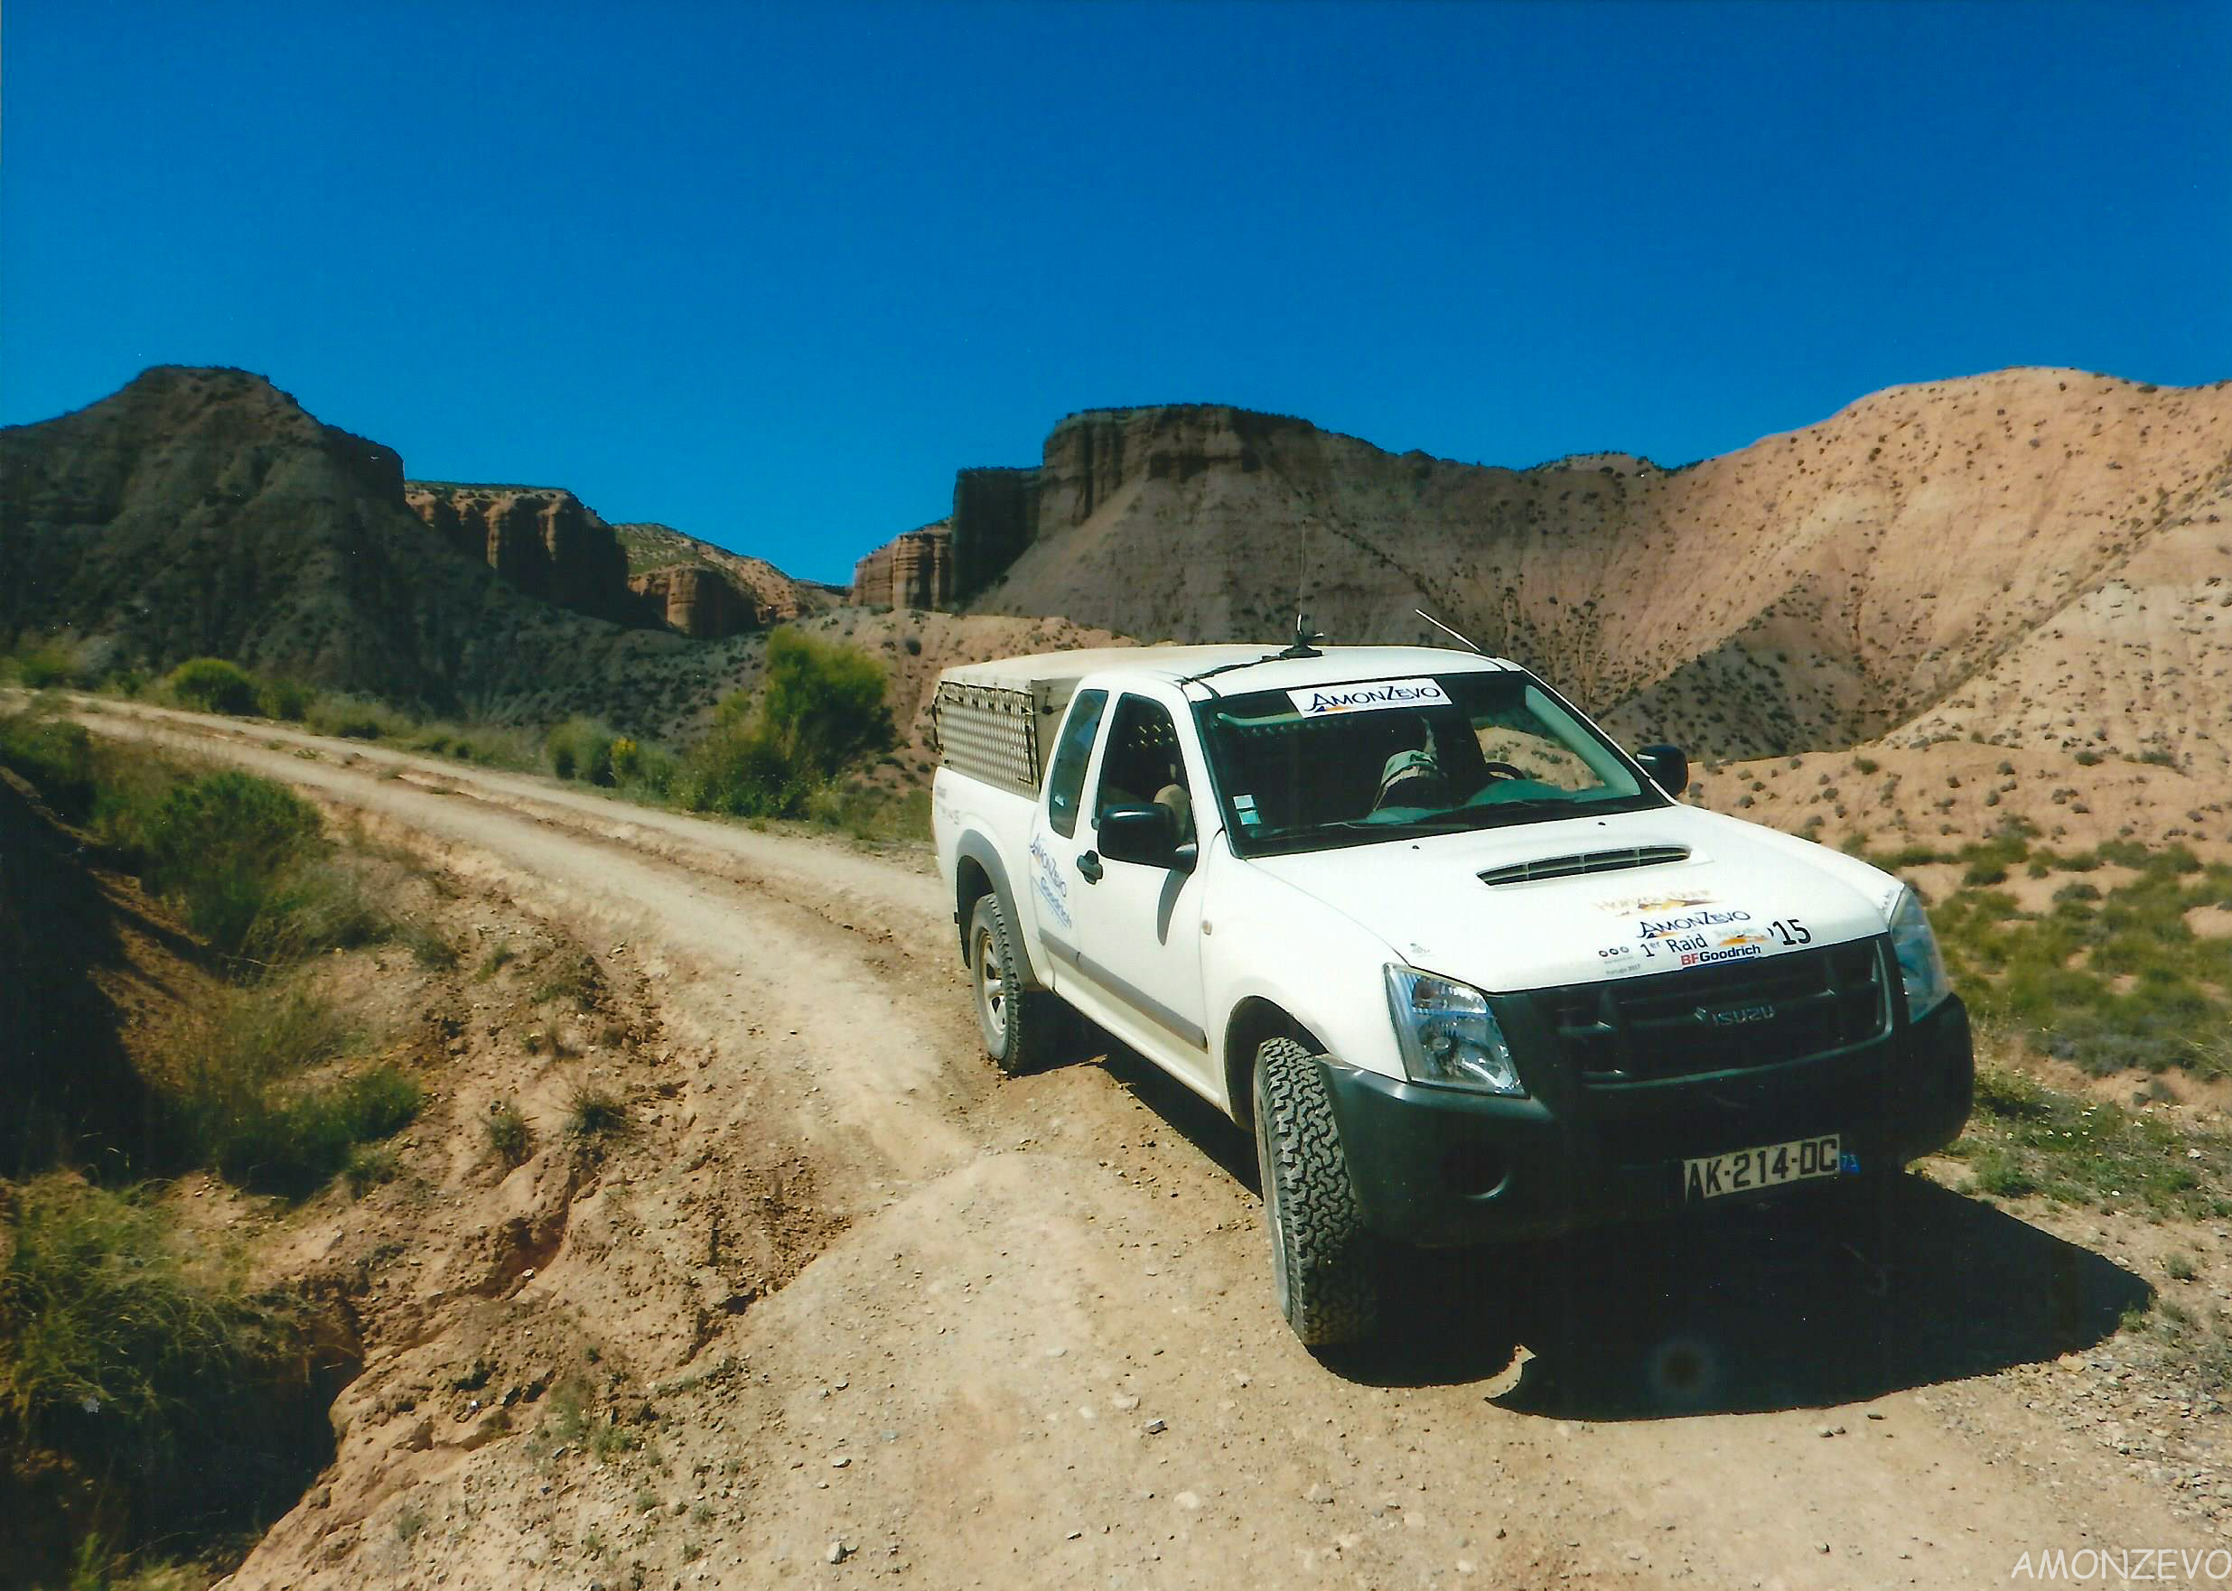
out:
{"label": "front windshield of the truck with AmonZevo banner on top", "polygon": [[1665,806],[1522,672],[1268,690],[1194,712],[1241,855]]}

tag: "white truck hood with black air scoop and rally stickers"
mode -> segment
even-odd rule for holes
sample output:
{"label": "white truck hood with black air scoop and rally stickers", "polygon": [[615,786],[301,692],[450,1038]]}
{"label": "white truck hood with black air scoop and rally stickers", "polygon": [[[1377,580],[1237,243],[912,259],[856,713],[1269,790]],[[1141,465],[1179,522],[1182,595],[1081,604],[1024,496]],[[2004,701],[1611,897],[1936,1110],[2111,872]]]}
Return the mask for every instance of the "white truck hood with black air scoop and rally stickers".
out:
{"label": "white truck hood with black air scoop and rally stickers", "polygon": [[[1687,855],[1634,866],[1634,852]],[[1578,864],[1582,857],[1589,861]],[[1252,866],[1379,935],[1411,966],[1489,991],[1866,939],[1884,933],[1899,890],[1891,875],[1826,846],[1683,806],[1259,857]],[[1522,872],[1574,866],[1591,870]]]}

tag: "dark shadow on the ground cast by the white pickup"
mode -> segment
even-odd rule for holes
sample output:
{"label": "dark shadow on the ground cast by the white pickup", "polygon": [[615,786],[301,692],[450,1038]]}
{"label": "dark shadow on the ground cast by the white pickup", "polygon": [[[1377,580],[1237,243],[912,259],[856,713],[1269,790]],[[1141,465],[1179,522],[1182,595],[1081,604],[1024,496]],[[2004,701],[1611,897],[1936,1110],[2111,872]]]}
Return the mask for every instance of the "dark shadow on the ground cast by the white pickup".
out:
{"label": "dark shadow on the ground cast by the white pickup", "polygon": [[[1125,1091],[1257,1187],[1245,1134],[1107,1049]],[[1873,1201],[1837,1185],[1540,1243],[1397,1250],[1384,1270],[1379,1337],[1321,1354],[1328,1370],[1482,1383],[1500,1408],[1560,1419],[1866,1401],[2089,1348],[2154,1296],[2123,1265],[1917,1176]]]}

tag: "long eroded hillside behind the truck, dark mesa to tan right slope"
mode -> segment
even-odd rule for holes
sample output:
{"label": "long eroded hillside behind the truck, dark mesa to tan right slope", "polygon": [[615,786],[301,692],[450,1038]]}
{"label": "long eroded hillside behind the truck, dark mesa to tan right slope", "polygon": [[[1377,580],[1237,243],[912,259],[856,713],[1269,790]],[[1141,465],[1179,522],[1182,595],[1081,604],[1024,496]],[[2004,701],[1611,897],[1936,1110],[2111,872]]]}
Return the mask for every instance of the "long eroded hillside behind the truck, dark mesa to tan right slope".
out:
{"label": "long eroded hillside behind the truck, dark mesa to tan right slope", "polygon": [[1424,605],[1719,756],[1978,732],[2223,768],[2228,511],[2232,386],[2000,370],[1676,471],[1094,411],[1038,469],[964,471],[940,556],[953,605],[1149,638],[1270,636],[1297,602],[1337,638],[1428,638]]}

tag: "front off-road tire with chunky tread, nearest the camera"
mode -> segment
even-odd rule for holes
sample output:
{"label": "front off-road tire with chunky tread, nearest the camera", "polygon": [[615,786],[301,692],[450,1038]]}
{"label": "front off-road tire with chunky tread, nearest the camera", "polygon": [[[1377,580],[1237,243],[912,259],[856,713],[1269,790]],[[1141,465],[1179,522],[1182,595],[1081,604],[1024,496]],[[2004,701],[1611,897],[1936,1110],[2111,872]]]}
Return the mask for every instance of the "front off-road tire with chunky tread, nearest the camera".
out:
{"label": "front off-road tire with chunky tread, nearest the camera", "polygon": [[1257,1167],[1279,1314],[1308,1348],[1379,1328],[1377,1247],[1364,1227],[1317,1058],[1266,1040],[1254,1064]]}

